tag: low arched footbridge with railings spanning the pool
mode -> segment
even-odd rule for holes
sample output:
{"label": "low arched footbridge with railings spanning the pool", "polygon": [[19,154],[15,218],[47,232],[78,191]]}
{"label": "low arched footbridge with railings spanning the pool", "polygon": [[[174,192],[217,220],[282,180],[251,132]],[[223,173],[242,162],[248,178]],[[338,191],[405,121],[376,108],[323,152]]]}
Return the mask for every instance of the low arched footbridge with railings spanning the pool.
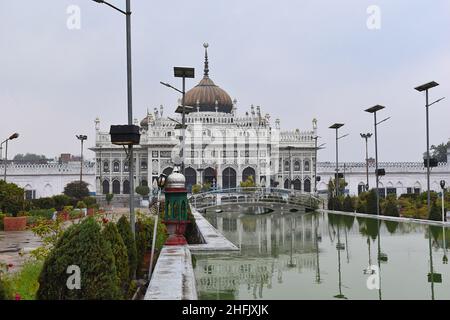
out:
{"label": "low arched footbridge with railings spanning the pool", "polygon": [[196,209],[231,203],[280,203],[317,209],[322,200],[311,193],[268,187],[231,188],[193,194],[189,202]]}

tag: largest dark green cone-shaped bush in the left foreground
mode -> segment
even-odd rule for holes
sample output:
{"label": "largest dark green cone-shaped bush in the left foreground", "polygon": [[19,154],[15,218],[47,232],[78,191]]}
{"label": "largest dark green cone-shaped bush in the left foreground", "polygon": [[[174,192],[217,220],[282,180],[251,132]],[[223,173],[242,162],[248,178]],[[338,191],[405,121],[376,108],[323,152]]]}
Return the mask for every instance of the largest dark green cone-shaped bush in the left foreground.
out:
{"label": "largest dark green cone-shaped bush in the left foreground", "polygon": [[[79,290],[71,290],[67,286],[69,266],[79,267],[82,279]],[[37,298],[113,300],[120,297],[111,245],[102,237],[99,224],[88,218],[70,226],[44,262]]]}

